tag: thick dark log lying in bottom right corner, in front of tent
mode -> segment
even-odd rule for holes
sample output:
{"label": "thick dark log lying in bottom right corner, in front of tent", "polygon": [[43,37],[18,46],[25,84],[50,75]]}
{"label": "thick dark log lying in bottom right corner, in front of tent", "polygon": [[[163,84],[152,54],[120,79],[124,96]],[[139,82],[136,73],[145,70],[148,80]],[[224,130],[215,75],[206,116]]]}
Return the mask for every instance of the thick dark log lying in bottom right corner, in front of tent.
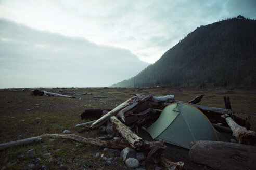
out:
{"label": "thick dark log lying in bottom right corner, in front of tent", "polygon": [[189,159],[216,169],[255,169],[256,147],[223,141],[190,143]]}

